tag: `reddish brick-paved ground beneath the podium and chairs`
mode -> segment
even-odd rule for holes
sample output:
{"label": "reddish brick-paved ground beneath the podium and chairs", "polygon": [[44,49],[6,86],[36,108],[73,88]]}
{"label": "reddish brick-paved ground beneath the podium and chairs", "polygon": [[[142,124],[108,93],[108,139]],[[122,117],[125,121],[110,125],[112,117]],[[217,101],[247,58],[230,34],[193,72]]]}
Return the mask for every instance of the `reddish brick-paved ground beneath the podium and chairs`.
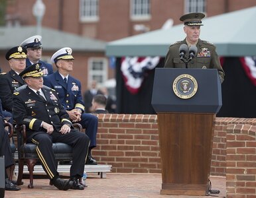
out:
{"label": "reddish brick-paved ground beneath the podium and chairs", "polygon": [[[5,197],[96,197],[96,198],[163,198],[179,197],[187,198],[192,196],[166,196],[160,195],[162,178],[160,174],[114,174],[107,173],[107,178],[99,178],[97,174],[89,173],[85,190],[60,191],[49,185],[47,179],[35,179],[34,189],[28,189],[29,180],[23,180],[21,191],[5,191]],[[202,197],[225,197],[225,178],[211,177],[212,189],[219,189],[220,194],[212,194]],[[194,197],[193,197],[194,198]]]}

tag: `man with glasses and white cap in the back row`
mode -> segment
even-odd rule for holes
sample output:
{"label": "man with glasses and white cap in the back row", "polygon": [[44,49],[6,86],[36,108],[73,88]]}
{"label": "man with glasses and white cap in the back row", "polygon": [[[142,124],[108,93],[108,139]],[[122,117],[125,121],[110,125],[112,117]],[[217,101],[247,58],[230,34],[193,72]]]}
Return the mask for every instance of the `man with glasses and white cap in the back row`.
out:
{"label": "man with glasses and white cap in the back row", "polygon": [[50,75],[53,73],[52,65],[49,63],[45,63],[41,61],[42,57],[42,44],[40,40],[42,36],[36,35],[27,38],[25,41],[21,43],[21,46],[24,46],[27,49],[27,59],[26,59],[26,66],[29,67],[34,63],[41,63],[40,68],[44,72],[44,75]]}

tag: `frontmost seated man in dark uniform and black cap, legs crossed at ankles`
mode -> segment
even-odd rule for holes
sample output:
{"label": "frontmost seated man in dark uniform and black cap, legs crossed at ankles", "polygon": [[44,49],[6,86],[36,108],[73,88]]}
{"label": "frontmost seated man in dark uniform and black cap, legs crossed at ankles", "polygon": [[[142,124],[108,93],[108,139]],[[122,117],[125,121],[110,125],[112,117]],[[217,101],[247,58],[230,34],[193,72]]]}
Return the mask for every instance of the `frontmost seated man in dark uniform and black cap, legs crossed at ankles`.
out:
{"label": "frontmost seated man in dark uniform and black cap, legs crossed at ankles", "polygon": [[[36,145],[42,168],[50,182],[58,189],[84,189],[78,182],[84,174],[90,139],[74,129],[55,90],[43,85],[40,63],[27,67],[19,74],[26,82],[13,94],[13,118],[17,124],[26,125],[27,142]],[[66,143],[72,147],[73,164],[70,180],[60,179],[52,143]]]}

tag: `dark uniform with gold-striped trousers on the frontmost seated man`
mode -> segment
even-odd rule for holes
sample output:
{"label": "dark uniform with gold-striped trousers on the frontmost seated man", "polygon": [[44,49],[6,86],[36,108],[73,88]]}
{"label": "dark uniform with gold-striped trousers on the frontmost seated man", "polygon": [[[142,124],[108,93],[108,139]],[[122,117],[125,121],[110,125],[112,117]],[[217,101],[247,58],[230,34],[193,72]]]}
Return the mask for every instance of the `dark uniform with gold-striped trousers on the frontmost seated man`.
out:
{"label": "dark uniform with gold-striped trousers on the frontmost seated man", "polygon": [[[66,143],[72,147],[73,164],[70,168],[70,176],[81,178],[84,173],[90,139],[85,133],[72,127],[72,122],[62,107],[56,91],[47,86],[43,86],[41,90],[46,100],[42,96],[38,96],[26,84],[18,88],[13,94],[13,117],[17,124],[26,125],[27,142],[37,145],[36,152],[50,179],[58,176],[52,142]],[[41,127],[42,121],[53,125],[52,134],[47,134],[46,129]],[[64,124],[71,126],[70,133],[59,132]]]}

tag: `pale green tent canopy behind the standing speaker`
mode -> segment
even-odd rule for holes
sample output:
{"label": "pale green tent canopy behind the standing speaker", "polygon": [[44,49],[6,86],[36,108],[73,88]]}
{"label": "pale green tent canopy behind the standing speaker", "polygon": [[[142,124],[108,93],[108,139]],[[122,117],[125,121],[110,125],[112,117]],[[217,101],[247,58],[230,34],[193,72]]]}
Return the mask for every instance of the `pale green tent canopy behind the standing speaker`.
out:
{"label": "pale green tent canopy behind the standing speaker", "polygon": [[[200,38],[216,45],[222,56],[256,55],[256,7],[204,18]],[[168,46],[186,36],[183,24],[109,42],[107,56],[165,56]]]}

